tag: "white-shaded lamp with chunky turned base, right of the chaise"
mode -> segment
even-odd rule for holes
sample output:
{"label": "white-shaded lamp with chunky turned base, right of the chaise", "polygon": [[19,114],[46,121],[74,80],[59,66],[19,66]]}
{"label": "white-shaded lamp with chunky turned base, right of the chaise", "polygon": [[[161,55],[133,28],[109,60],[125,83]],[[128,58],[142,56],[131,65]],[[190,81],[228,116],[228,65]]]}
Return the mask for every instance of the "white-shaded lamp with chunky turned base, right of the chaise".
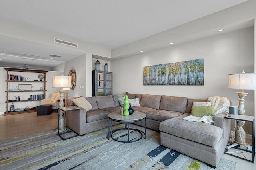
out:
{"label": "white-shaded lamp with chunky turned base, right of the chaise", "polygon": [[[256,73],[245,73],[244,70],[240,74],[228,75],[228,89],[239,89],[241,92],[237,92],[239,96],[238,115],[244,115],[244,98],[248,93],[244,90],[256,90]],[[245,131],[243,129],[245,121],[238,121],[238,127],[236,128],[235,143],[238,143],[241,148],[247,149],[245,146]]]}

